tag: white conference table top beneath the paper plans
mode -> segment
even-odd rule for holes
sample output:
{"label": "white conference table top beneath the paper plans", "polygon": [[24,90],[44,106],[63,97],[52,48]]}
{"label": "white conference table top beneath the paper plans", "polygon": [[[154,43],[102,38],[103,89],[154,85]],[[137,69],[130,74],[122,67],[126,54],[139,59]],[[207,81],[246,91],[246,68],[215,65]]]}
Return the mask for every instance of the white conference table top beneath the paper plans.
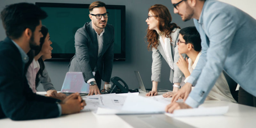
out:
{"label": "white conference table top beneath the paper plans", "polygon": [[[140,90],[145,96],[146,92]],[[39,92],[40,93],[40,92]],[[42,94],[42,92],[41,92]],[[159,93],[160,95],[163,92]],[[87,127],[87,128],[131,128],[131,127],[198,127],[198,128],[255,128],[256,108],[217,100],[206,100],[202,106],[229,106],[228,113],[222,116],[174,117],[164,114],[153,115],[96,115],[93,112],[80,112],[58,118],[12,121],[0,119],[1,128],[52,128],[52,127]],[[143,118],[141,118],[143,117]],[[147,117],[147,118],[144,118]],[[150,118],[148,118],[150,117]],[[151,118],[152,117],[152,118]],[[151,123],[151,124],[150,124]],[[158,123],[158,124],[157,124]],[[160,124],[159,124],[160,123]],[[154,125],[152,125],[154,124]]]}

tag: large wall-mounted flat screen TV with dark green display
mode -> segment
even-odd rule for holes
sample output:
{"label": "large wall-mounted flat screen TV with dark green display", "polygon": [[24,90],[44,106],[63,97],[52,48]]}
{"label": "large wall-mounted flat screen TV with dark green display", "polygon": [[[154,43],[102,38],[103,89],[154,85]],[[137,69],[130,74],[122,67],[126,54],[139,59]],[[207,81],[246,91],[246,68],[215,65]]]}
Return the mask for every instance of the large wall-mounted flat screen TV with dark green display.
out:
{"label": "large wall-mounted flat screen TV with dark green display", "polygon": [[[52,41],[52,59],[46,61],[70,61],[75,54],[75,33],[89,18],[90,4],[40,3],[48,17],[42,24],[48,28]],[[108,24],[115,29],[114,61],[125,61],[125,6],[106,5]]]}

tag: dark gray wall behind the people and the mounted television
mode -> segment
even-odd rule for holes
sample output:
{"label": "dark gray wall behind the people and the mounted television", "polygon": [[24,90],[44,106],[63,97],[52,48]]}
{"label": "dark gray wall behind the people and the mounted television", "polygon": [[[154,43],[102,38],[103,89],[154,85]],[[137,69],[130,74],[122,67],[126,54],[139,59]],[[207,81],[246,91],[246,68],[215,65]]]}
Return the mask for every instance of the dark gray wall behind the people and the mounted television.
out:
{"label": "dark gray wall behind the people and the mounted television", "polygon": [[[50,3],[74,3],[90,4],[94,0],[1,0],[0,10],[5,5],[19,2],[50,2]],[[130,89],[138,88],[137,79],[133,73],[134,70],[140,71],[142,80],[147,88],[152,86],[151,82],[151,63],[152,52],[147,50],[147,44],[144,37],[148,27],[145,22],[148,15],[148,8],[154,4],[163,4],[167,6],[172,15],[172,22],[175,22],[181,28],[194,26],[192,20],[183,22],[178,14],[173,13],[171,0],[102,0],[102,2],[111,5],[126,6],[126,61],[114,62],[112,77],[122,78]],[[111,17],[110,17],[111,18]],[[2,21],[0,21],[2,24]],[[43,23],[44,24],[44,23]],[[0,40],[5,38],[4,28],[0,26]],[[52,84],[57,91],[60,91],[66,72],[68,71],[68,62],[45,62],[48,73],[52,79]],[[170,68],[165,61],[162,64],[161,82],[159,87],[172,90],[172,84],[169,81]],[[103,83],[102,83],[103,85]],[[42,86],[38,91],[44,91]]]}

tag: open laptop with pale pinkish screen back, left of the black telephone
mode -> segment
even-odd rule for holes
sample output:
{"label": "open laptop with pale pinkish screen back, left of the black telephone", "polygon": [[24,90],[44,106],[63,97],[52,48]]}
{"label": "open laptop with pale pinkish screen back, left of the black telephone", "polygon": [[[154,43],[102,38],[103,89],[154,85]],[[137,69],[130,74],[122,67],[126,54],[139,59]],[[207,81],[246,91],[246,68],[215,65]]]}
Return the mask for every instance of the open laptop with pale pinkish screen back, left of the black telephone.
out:
{"label": "open laptop with pale pinkish screen back, left of the black telephone", "polygon": [[60,92],[66,95],[76,92],[79,92],[80,96],[88,95],[89,86],[84,82],[82,72],[67,72]]}

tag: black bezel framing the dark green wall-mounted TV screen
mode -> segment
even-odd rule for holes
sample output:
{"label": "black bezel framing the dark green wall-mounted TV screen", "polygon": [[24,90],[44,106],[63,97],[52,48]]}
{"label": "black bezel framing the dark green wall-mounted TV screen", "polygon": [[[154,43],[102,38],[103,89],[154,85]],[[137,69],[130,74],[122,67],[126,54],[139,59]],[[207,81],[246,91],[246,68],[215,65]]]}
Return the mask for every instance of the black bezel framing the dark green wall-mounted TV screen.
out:
{"label": "black bezel framing the dark green wall-mounted TV screen", "polygon": [[[90,4],[36,2],[36,5],[39,7],[89,8]],[[121,10],[121,53],[114,53],[114,61],[125,61],[125,5],[106,5],[106,9]],[[45,61],[70,61],[74,54],[75,53],[52,53],[52,59]]]}

